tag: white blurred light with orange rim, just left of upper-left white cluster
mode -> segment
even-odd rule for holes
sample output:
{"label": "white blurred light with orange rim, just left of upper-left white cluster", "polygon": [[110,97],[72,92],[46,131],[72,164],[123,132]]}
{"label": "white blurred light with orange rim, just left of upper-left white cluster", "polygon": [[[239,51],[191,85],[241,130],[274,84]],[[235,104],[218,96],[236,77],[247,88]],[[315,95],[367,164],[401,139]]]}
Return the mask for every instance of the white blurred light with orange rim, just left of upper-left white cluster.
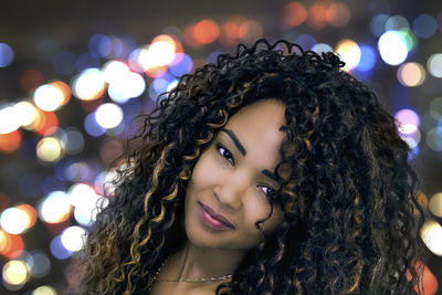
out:
{"label": "white blurred light with orange rim, just left of upper-left white cluster", "polygon": [[98,69],[87,69],[73,78],[71,87],[73,95],[78,99],[97,99],[106,88],[104,74]]}

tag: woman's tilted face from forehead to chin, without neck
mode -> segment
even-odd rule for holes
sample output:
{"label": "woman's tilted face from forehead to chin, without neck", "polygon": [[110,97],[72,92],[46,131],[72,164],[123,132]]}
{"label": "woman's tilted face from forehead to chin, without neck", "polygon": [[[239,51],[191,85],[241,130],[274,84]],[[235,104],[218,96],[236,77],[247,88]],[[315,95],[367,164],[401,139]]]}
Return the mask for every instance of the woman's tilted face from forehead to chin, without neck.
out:
{"label": "woman's tilted face from forehead to chin, without neck", "polygon": [[[242,108],[201,154],[186,191],[186,232],[191,243],[246,250],[262,240],[255,222],[267,218],[267,193],[278,189],[274,169],[284,137],[280,131],[284,110],[273,99]],[[271,218],[260,223],[265,235],[282,220],[274,206]]]}

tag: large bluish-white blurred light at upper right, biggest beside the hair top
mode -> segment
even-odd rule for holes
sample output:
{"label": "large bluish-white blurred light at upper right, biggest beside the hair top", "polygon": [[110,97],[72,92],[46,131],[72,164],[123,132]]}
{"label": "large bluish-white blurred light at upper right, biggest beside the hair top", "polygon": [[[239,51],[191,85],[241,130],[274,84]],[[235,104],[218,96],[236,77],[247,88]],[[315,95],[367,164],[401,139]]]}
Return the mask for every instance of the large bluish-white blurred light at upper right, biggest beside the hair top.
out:
{"label": "large bluish-white blurred light at upper right, biggest beside the hair top", "polygon": [[382,60],[390,65],[401,64],[408,55],[404,38],[398,31],[385,32],[379,38],[378,49]]}

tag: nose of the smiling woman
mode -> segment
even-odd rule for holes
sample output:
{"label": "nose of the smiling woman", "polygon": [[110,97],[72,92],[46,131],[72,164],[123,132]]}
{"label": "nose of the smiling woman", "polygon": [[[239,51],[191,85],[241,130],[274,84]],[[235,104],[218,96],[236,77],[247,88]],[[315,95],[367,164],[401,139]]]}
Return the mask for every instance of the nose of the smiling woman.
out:
{"label": "nose of the smiling woman", "polygon": [[240,210],[243,206],[243,199],[248,191],[248,182],[245,179],[239,179],[234,176],[221,180],[213,188],[213,194],[220,206],[231,210]]}

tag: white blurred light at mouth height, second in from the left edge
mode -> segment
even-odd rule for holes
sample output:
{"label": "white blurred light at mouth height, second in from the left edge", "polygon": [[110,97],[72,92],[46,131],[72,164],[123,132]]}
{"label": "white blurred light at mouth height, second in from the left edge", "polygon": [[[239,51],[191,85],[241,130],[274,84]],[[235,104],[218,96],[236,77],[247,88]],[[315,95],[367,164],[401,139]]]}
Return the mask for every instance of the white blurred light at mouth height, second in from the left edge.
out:
{"label": "white blurred light at mouth height, second in from the left edge", "polygon": [[70,198],[63,191],[53,191],[38,204],[39,218],[46,223],[61,223],[71,215]]}

